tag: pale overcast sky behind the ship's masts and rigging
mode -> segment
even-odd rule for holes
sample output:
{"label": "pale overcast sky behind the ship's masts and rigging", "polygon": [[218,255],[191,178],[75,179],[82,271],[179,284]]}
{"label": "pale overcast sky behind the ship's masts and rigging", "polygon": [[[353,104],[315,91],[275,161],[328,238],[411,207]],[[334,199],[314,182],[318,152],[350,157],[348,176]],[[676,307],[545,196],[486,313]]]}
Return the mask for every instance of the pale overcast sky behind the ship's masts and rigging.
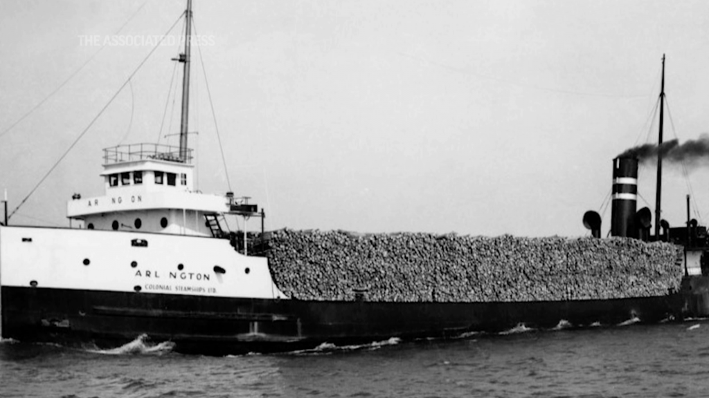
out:
{"label": "pale overcast sky behind the ship's masts and rigging", "polygon": [[[0,137],[10,210],[185,1],[143,4],[0,0],[0,132],[99,51]],[[101,47],[134,14],[119,33],[133,42]],[[210,0],[194,21],[199,188],[228,191],[206,72],[231,188],[265,208],[267,229],[588,235],[581,217],[601,210],[612,159],[657,141],[663,53],[666,139],[709,132],[707,1]],[[103,194],[101,149],[179,132],[179,51],[155,51],[11,223],[67,225],[72,193]],[[641,167],[639,208],[654,209],[654,175]],[[666,167],[670,224],[690,187],[693,217],[709,220],[709,167],[688,176]]]}

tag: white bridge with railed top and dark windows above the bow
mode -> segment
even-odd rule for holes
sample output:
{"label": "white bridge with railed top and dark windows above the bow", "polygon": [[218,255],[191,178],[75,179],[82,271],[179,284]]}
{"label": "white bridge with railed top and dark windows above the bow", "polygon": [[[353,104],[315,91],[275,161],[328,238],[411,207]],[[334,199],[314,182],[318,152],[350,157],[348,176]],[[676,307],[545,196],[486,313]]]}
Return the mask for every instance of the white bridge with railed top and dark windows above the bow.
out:
{"label": "white bridge with railed top and dark windows above the bow", "polygon": [[191,149],[181,157],[179,147],[169,145],[106,148],[101,173],[106,194],[70,200],[67,217],[82,220],[88,229],[213,236],[217,217],[234,204],[233,195],[195,191],[191,160]]}

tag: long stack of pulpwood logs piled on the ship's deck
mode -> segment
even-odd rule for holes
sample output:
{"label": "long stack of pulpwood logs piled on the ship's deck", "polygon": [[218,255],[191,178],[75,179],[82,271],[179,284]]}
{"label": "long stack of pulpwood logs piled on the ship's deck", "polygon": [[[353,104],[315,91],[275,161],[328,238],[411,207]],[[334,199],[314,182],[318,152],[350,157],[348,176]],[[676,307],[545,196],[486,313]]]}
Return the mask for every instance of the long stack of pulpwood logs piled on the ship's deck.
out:
{"label": "long stack of pulpwood logs piled on the ship's deck", "polygon": [[666,295],[681,248],[630,238],[469,237],[281,229],[265,254],[300,300],[519,302]]}

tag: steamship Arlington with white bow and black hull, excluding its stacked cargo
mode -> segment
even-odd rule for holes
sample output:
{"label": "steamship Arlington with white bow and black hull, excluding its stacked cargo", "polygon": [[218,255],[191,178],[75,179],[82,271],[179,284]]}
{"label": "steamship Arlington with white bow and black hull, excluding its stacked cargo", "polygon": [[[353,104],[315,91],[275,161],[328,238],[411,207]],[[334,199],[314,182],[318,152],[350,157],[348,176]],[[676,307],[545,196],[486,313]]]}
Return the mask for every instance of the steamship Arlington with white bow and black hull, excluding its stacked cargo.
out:
{"label": "steamship Arlington with white bow and black hull, excluding its stacked cargo", "polygon": [[[225,217],[264,211],[233,193],[194,188],[189,149],[191,0],[185,16],[179,147],[128,144],[104,149],[105,194],[75,195],[67,217],[82,227],[0,224],[0,336],[23,342],[113,348],[148,336],[174,350],[214,355],[279,352],[398,339],[497,332],[520,324],[553,328],[661,322],[709,315],[706,229],[670,228],[636,212],[637,159],[613,161],[612,234],[684,247],[681,289],[650,297],[596,300],[394,302],[299,300],[272,277],[267,258],[249,255]],[[663,74],[664,76],[664,74]],[[664,78],[663,78],[664,80]],[[663,84],[664,86],[664,84]],[[661,94],[661,98],[664,96]],[[659,214],[659,210],[657,212]],[[601,236],[601,217],[584,224]],[[664,233],[659,233],[659,226]]]}

